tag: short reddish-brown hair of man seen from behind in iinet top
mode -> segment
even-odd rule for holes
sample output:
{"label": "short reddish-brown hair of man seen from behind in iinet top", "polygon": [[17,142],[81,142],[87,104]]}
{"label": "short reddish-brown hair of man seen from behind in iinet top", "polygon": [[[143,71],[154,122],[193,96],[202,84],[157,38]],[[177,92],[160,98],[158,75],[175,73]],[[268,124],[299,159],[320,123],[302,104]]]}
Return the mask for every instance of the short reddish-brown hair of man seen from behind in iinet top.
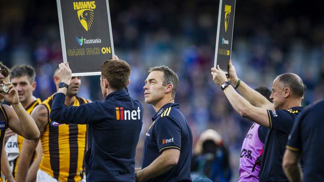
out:
{"label": "short reddish-brown hair of man seen from behind in iinet top", "polygon": [[123,60],[107,60],[101,65],[101,76],[117,91],[127,87],[131,75],[130,65]]}

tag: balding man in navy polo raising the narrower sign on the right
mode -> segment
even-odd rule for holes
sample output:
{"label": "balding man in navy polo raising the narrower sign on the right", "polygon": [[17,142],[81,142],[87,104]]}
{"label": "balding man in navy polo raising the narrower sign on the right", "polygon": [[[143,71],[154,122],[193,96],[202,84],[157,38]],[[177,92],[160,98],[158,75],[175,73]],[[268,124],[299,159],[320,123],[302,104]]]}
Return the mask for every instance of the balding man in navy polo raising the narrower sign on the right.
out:
{"label": "balding man in navy polo raising the narrower sign on the right", "polygon": [[[270,102],[238,79],[229,61],[228,79],[219,69],[211,68],[215,84],[224,91],[233,108],[243,117],[270,128],[266,137],[260,169],[260,182],[287,182],[282,170],[282,159],[295,118],[301,112],[305,87],[302,79],[293,73],[279,75],[273,81]],[[232,86],[230,82],[235,86]],[[237,89],[242,96],[235,91]]]}

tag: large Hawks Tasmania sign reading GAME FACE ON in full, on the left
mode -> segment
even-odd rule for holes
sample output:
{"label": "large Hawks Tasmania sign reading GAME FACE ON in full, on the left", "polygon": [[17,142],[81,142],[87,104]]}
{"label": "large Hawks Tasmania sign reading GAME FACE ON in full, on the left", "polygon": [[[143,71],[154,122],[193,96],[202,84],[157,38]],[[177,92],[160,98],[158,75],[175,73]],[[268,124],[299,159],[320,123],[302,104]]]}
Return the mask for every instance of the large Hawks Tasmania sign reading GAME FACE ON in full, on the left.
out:
{"label": "large Hawks Tasmania sign reading GAME FACE ON in full, on the left", "polygon": [[63,62],[72,76],[101,74],[114,55],[108,0],[56,0]]}

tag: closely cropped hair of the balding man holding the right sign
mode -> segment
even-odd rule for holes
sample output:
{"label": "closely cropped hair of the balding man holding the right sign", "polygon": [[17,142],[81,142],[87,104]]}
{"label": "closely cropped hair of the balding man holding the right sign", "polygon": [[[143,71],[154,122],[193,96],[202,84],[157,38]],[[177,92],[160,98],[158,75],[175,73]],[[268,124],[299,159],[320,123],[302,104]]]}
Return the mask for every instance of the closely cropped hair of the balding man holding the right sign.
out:
{"label": "closely cropped hair of the balding man holding the right sign", "polygon": [[285,73],[277,77],[281,88],[289,88],[291,93],[297,97],[303,97],[306,87],[303,80],[294,73]]}

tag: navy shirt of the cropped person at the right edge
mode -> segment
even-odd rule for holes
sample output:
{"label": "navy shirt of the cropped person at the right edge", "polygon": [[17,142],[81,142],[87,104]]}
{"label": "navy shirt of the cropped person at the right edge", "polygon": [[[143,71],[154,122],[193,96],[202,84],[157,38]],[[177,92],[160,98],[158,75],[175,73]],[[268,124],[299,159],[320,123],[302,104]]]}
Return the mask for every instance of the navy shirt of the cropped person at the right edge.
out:
{"label": "navy shirt of the cropped person at the right edge", "polygon": [[324,100],[305,109],[297,118],[287,149],[302,152],[303,182],[324,181]]}

